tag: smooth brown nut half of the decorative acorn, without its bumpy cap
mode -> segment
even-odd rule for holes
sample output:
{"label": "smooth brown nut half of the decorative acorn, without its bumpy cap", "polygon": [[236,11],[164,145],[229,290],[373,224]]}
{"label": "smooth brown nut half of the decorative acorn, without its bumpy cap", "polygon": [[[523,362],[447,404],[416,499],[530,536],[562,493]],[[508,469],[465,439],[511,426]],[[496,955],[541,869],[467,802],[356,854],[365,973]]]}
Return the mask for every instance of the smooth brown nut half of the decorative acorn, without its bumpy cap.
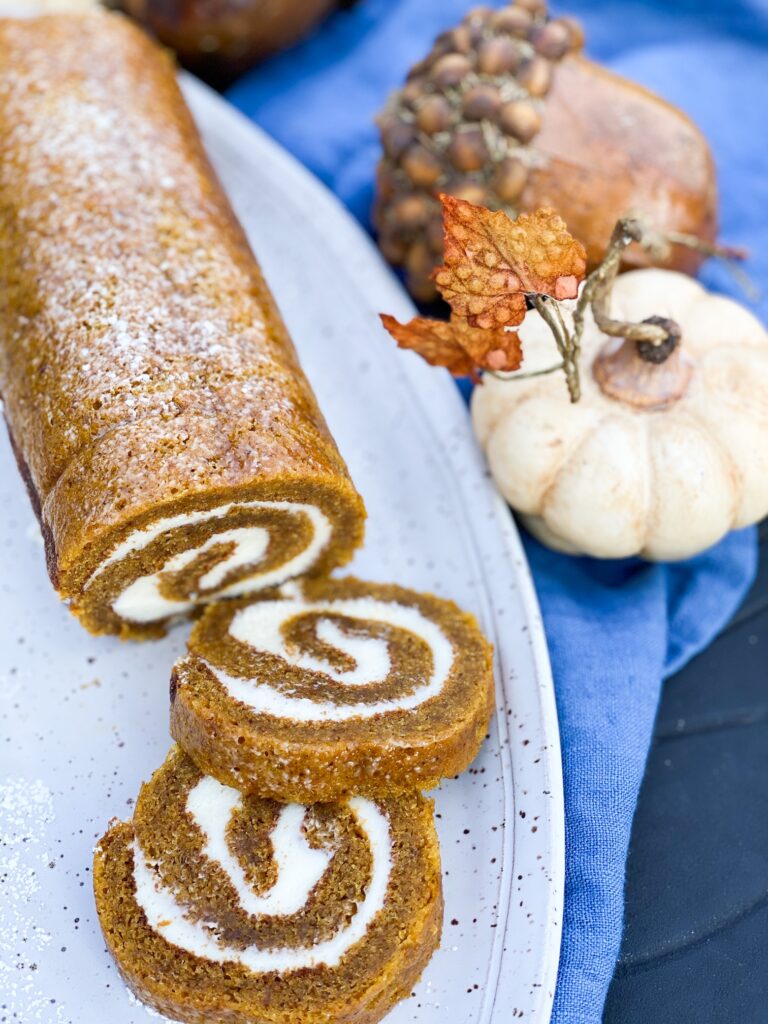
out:
{"label": "smooth brown nut half of the decorative acorn, without its bumpy cap", "polygon": [[[586,57],[558,67],[537,137],[547,160],[536,168],[523,206],[554,206],[600,261],[617,217],[640,210],[657,227],[714,240],[717,189],[710,148],[695,125],[670,103]],[[650,262],[633,247],[625,260]],[[667,265],[693,273],[702,260],[675,246]]]}

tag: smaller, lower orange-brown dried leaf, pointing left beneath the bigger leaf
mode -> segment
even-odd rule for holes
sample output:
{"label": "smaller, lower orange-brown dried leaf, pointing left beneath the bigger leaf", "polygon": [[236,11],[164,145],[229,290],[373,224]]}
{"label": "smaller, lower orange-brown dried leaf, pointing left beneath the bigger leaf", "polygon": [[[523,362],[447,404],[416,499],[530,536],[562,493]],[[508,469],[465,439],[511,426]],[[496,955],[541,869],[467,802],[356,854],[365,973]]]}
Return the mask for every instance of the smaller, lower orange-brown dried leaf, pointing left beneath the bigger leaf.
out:
{"label": "smaller, lower orange-brown dried leaf, pointing left beneath the bigger leaf", "polygon": [[466,319],[427,319],[408,324],[381,313],[381,322],[400,348],[418,352],[433,367],[445,367],[455,377],[475,376],[475,371],[517,370],[522,361],[520,339],[514,331],[484,331]]}

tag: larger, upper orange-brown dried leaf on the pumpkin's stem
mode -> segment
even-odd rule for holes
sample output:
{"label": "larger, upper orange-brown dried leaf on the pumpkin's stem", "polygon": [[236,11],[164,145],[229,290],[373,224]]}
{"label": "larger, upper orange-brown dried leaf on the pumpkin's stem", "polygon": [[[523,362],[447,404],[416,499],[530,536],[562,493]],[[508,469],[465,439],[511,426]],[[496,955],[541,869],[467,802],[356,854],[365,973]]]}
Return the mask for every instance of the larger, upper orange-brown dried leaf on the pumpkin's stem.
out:
{"label": "larger, upper orange-brown dried leaf on the pumpkin's stem", "polygon": [[443,266],[434,279],[459,316],[478,328],[514,327],[525,315],[525,293],[572,299],[587,270],[587,253],[550,209],[511,220],[454,196],[440,196]]}

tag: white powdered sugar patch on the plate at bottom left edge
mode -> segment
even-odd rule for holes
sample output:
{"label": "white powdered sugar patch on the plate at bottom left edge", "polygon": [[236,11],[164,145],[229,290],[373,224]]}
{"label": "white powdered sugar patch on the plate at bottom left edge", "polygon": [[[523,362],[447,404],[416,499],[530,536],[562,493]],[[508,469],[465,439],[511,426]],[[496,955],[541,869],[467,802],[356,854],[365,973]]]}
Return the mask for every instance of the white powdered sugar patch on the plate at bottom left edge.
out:
{"label": "white powdered sugar patch on the plate at bottom left edge", "polygon": [[53,799],[42,781],[12,777],[0,784],[0,992],[3,1019],[25,1024],[69,1019],[42,990],[37,964],[51,941],[34,907],[38,876],[50,860],[45,841],[52,820]]}

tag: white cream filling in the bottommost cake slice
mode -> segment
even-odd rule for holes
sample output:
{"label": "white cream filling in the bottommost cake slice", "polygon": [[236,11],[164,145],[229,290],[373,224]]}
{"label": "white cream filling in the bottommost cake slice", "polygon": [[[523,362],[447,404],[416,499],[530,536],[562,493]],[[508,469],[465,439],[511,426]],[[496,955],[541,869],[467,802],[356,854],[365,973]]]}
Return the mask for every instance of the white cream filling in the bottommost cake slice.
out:
{"label": "white cream filling in the bottommost cake slice", "polygon": [[[240,808],[242,799],[237,791],[208,777],[201,779],[189,792],[186,810],[205,837],[205,856],[224,871],[246,913],[296,913],[325,874],[333,852],[310,847],[303,829],[306,808],[299,804],[286,805],[271,834],[278,867],[275,884],[265,895],[254,893],[226,842],[229,819]],[[318,965],[336,967],[352,946],[366,937],[384,906],[392,868],[392,844],[386,816],[373,801],[361,797],[352,797],[347,804],[370,846],[371,879],[362,901],[357,904],[348,923],[335,935],[314,945],[283,948],[262,948],[255,944],[245,948],[227,946],[218,937],[215,925],[194,921],[187,915],[187,908],[163,885],[156,865],[146,860],[140,844],[134,840],[136,902],[152,929],[166,941],[203,959],[217,964],[242,964],[256,974],[298,971]]]}

